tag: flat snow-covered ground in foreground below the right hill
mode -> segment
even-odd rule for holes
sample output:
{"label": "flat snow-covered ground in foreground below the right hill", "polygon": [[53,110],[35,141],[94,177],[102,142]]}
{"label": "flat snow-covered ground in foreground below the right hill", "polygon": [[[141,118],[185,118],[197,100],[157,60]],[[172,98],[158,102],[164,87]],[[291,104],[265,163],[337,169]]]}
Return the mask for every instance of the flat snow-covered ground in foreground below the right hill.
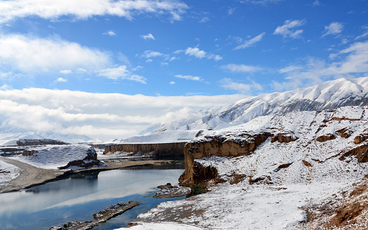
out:
{"label": "flat snow-covered ground in foreground below the right hill", "polygon": [[161,203],[139,215],[139,225],[129,229],[172,229],[173,226],[176,229],[303,229],[304,205],[316,203],[350,185],[351,182],[286,186],[221,184],[207,194]]}

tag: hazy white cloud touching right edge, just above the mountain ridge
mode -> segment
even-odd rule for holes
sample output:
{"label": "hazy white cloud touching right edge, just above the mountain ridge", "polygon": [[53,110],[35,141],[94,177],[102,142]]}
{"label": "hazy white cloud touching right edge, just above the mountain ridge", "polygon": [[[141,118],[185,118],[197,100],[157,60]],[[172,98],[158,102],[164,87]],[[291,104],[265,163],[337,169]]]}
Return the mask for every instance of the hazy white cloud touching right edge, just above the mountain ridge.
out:
{"label": "hazy white cloud touching right edge, just above the mountain ridge", "polygon": [[299,86],[311,86],[326,79],[357,77],[368,73],[368,41],[356,42],[338,53],[330,55],[334,61],[328,63],[315,57],[308,57],[304,64],[289,65],[279,70],[286,75],[285,82],[274,82],[277,90],[289,90]]}

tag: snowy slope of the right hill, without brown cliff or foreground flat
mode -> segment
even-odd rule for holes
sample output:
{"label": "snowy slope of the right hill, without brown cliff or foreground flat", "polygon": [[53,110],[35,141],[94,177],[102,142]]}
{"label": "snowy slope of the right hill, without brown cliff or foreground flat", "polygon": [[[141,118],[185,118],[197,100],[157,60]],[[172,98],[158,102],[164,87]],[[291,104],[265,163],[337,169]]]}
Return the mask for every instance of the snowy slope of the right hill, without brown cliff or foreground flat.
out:
{"label": "snowy slope of the right hill, without brown cliff or foreground flat", "polygon": [[[368,107],[258,117],[244,125],[207,132],[193,143],[210,140],[222,140],[223,144],[247,143],[258,134],[268,138],[250,154],[235,158],[212,156],[195,161],[217,168],[225,180],[237,174],[272,184],[339,182],[368,173],[368,161],[358,161],[357,156],[346,154],[367,145],[355,138],[364,140],[368,136]],[[274,138],[278,136],[290,138],[287,141]]]}

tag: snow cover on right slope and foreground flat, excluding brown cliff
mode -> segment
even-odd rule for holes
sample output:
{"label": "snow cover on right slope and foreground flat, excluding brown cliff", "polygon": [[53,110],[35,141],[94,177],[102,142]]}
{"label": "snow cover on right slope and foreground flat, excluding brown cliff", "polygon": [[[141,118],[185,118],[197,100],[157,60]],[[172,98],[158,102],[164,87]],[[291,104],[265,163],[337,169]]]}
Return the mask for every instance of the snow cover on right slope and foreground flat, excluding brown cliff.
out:
{"label": "snow cover on right slope and foreground flat, excluding brown cliff", "polygon": [[[303,229],[304,206],[340,196],[340,189],[368,174],[367,162],[344,156],[367,145],[367,141],[355,144],[354,139],[368,136],[368,107],[263,116],[241,126],[204,132],[192,142],[214,137],[243,142],[257,133],[280,133],[297,140],[280,143],[268,137],[247,156],[196,159],[216,168],[227,182],[210,187],[207,194],[161,203],[139,215],[139,225],[131,229],[171,229],[173,225],[177,229]],[[334,137],[316,140],[323,136]],[[245,177],[232,184],[234,175]],[[250,183],[256,179],[260,182]]]}

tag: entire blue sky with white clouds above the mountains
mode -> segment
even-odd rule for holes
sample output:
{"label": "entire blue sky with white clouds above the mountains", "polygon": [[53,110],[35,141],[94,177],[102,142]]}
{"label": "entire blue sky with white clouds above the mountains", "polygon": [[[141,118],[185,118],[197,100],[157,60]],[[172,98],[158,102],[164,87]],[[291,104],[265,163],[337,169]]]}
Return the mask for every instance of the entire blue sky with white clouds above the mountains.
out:
{"label": "entire blue sky with white clouds above the mountains", "polygon": [[0,1],[0,130],[137,135],[368,76],[368,1]]}

